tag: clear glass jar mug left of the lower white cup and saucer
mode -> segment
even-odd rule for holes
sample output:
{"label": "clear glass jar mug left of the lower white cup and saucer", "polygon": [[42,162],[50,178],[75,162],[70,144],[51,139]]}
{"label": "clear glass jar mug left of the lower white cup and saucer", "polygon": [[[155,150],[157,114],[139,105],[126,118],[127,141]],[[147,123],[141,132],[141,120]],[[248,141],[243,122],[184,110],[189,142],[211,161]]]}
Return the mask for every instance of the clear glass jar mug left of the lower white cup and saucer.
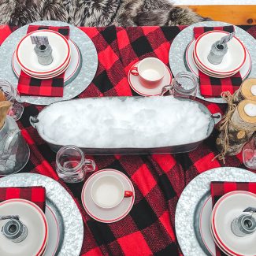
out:
{"label": "clear glass jar mug left of the lower white cup and saucer", "polygon": [[66,183],[78,183],[84,180],[87,172],[94,172],[95,161],[86,159],[83,151],[76,146],[65,146],[56,155],[56,172]]}

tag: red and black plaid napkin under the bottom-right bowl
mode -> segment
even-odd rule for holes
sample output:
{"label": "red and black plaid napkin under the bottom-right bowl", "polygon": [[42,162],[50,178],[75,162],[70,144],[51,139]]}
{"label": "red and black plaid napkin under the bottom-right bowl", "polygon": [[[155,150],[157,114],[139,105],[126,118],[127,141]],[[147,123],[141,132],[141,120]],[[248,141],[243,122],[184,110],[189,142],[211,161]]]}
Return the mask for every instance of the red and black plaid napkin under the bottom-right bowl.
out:
{"label": "red and black plaid napkin under the bottom-right bowl", "polygon": [[[231,191],[249,191],[256,194],[256,182],[219,182],[213,181],[210,184],[213,206],[222,195]],[[216,245],[216,256],[226,256],[223,251]]]}

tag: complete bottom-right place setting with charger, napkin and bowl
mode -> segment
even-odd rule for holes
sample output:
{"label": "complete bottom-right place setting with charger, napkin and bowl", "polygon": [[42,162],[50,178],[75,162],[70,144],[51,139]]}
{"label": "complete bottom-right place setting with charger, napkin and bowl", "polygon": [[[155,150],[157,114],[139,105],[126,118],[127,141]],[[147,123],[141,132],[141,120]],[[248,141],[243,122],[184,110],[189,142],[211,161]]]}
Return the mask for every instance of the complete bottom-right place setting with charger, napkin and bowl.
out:
{"label": "complete bottom-right place setting with charger, napkin and bowl", "polygon": [[220,167],[187,184],[175,220],[184,255],[255,255],[255,182],[250,171]]}

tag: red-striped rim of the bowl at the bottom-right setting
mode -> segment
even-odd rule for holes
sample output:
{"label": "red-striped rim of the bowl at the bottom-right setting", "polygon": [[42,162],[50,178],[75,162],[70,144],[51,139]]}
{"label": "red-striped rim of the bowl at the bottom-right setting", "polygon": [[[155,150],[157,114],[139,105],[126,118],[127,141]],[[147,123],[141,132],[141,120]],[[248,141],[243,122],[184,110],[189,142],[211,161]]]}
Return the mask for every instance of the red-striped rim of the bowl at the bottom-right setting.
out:
{"label": "red-striped rim of the bowl at the bottom-right setting", "polygon": [[[215,206],[213,207],[213,213],[212,213],[212,217],[211,217],[211,224],[212,224],[212,231],[213,231],[213,236],[215,237],[215,239],[217,239],[217,242],[220,243],[221,247],[223,247],[224,250],[226,250],[227,252],[231,253],[231,254],[234,254],[236,256],[246,256],[246,255],[243,255],[243,254],[237,254],[236,252],[232,251],[231,249],[229,249],[228,247],[225,246],[225,244],[221,241],[220,237],[218,236],[217,234],[217,229],[216,229],[216,226],[215,226],[215,215],[216,215],[216,211],[217,211],[217,208],[220,206],[221,202],[227,198],[228,196],[230,195],[236,195],[236,194],[246,194],[246,195],[250,195],[250,196],[253,196],[256,198],[256,195],[253,194],[253,193],[250,193],[248,191],[232,191],[232,192],[229,192],[225,195],[223,195],[218,201],[217,203],[215,204]],[[256,256],[256,255],[254,255]]]}

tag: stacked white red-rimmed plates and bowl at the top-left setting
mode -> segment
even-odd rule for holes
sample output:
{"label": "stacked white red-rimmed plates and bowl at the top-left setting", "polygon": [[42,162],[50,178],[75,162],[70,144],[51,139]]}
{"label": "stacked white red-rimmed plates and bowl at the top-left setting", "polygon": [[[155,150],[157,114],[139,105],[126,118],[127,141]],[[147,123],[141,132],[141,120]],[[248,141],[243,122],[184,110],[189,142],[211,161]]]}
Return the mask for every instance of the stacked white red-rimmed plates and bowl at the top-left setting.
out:
{"label": "stacked white red-rimmed plates and bowl at the top-left setting", "polygon": [[[35,44],[32,44],[31,35],[46,36],[52,48],[53,61],[50,65],[39,64],[35,54]],[[58,32],[39,30],[28,33],[18,43],[13,54],[13,71],[17,76],[22,69],[28,76],[46,80],[59,76],[67,70],[65,80],[73,76],[80,66],[80,51],[75,43]]]}

